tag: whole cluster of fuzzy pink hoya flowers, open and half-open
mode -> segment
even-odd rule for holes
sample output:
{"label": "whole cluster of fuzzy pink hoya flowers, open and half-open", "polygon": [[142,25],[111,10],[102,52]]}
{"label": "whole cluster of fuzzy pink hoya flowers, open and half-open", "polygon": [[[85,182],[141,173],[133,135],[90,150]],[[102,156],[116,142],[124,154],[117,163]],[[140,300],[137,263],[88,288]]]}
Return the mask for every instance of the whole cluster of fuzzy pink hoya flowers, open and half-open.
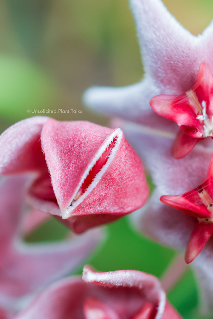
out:
{"label": "whole cluster of fuzzy pink hoya flowers, open and half-open", "polygon": [[[130,3],[144,78],[84,94],[88,107],[123,119],[112,121],[116,128],[35,116],[0,136],[3,319],[181,318],[159,280],[141,271],[101,273],[85,266],[82,279],[47,287],[102,239],[103,229],[94,227],[136,210],[137,229],[185,250],[202,288],[202,311],[213,311],[213,24],[196,37],[161,0]],[[146,205],[141,159],[156,186]],[[25,243],[24,235],[50,215],[80,235]]]}

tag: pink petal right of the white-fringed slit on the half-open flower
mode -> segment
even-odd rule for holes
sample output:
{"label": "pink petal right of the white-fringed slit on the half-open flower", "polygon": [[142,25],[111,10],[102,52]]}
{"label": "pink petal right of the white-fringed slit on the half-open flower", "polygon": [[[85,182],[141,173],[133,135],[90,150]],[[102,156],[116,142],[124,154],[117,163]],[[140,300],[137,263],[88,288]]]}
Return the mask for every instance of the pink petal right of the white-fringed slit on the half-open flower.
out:
{"label": "pink petal right of the white-fringed slit on the half-open flower", "polygon": [[69,223],[80,233],[89,226],[114,221],[145,204],[148,194],[141,160],[122,137],[118,154],[107,174],[76,207]]}

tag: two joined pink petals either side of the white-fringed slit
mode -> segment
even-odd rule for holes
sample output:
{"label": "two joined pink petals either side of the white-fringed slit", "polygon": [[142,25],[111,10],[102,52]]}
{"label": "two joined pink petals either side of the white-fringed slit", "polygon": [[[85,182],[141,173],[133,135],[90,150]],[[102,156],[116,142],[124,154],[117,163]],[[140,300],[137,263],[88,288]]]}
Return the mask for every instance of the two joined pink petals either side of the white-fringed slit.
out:
{"label": "two joined pink petals either side of the white-fringed slit", "polygon": [[[115,138],[107,162],[77,197]],[[120,129],[50,119],[42,131],[42,143],[62,217],[69,218],[66,224],[75,232],[118,219],[147,200],[148,185],[141,160]]]}

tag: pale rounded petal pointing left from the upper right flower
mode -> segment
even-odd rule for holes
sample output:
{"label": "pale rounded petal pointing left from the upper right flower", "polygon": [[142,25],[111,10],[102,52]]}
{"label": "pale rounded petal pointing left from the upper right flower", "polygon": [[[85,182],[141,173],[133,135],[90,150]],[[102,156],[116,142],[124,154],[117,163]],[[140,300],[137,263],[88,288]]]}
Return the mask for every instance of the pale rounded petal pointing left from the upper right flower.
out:
{"label": "pale rounded petal pointing left from the upper right flower", "polygon": [[140,83],[125,87],[91,87],[85,91],[83,101],[93,111],[165,130],[175,130],[175,123],[157,115],[149,106],[150,99],[161,93],[152,82],[151,78],[145,77]]}

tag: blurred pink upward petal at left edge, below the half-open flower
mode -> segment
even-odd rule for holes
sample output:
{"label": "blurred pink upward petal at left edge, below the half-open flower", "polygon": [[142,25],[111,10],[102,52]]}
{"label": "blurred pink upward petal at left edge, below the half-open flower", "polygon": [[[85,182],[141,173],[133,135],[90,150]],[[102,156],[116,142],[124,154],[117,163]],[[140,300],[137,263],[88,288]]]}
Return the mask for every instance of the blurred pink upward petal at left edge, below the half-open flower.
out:
{"label": "blurred pink upward petal at left edge, below the half-open flower", "polygon": [[0,182],[0,264],[17,235],[26,182],[26,176],[2,178]]}

